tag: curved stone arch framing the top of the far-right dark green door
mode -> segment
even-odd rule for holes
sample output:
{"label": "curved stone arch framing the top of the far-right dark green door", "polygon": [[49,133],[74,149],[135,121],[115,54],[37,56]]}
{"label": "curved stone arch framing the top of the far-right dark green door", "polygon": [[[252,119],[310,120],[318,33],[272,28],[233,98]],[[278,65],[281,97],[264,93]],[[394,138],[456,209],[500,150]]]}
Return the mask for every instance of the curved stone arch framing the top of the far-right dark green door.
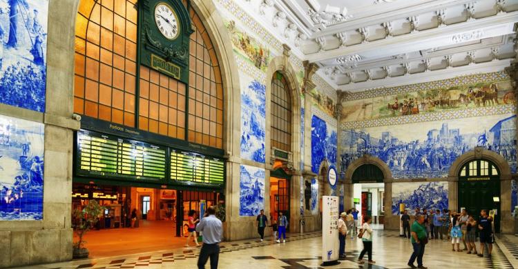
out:
{"label": "curved stone arch framing the top of the far-right dark green door", "polygon": [[491,150],[486,150],[485,148],[477,147],[473,150],[470,150],[463,155],[457,157],[455,161],[450,166],[450,171],[448,172],[448,177],[457,178],[459,177],[459,172],[469,161],[475,159],[487,159],[495,163],[495,166],[498,167],[500,171],[500,179],[510,179],[511,178],[511,168],[506,159],[503,159],[501,155]]}

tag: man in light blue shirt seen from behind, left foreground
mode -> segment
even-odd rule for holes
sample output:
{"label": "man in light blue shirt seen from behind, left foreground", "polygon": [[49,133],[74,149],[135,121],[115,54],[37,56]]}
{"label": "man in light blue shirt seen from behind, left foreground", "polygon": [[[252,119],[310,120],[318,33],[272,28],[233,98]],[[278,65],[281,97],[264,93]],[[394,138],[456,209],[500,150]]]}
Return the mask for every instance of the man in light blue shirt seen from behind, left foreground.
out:
{"label": "man in light blue shirt seen from behind, left foreground", "polygon": [[218,268],[220,245],[223,237],[223,224],[215,217],[215,207],[209,206],[204,218],[196,226],[196,232],[203,234],[203,246],[198,257],[198,269],[205,268],[205,263],[211,258],[211,269]]}

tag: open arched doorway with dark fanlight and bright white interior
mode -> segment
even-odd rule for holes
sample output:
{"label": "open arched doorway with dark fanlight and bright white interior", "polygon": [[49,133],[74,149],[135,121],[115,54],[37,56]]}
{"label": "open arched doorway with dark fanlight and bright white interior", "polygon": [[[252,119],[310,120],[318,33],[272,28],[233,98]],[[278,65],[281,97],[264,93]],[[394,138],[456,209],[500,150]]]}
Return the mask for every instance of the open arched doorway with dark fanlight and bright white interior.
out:
{"label": "open arched doorway with dark fanlight and bright white interior", "polygon": [[383,224],[385,212],[383,179],[383,171],[372,163],[362,164],[352,173],[353,207],[359,211],[358,219],[371,216],[373,223]]}

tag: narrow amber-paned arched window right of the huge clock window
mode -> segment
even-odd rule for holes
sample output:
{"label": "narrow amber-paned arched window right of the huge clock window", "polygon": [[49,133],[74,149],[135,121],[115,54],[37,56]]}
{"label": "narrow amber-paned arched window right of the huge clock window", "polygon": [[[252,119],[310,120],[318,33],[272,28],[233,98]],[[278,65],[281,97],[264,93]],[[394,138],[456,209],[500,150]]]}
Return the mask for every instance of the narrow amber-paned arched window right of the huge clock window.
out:
{"label": "narrow amber-paned arched window right of the huge clock window", "polygon": [[280,72],[271,80],[271,146],[291,151],[291,98],[288,83]]}

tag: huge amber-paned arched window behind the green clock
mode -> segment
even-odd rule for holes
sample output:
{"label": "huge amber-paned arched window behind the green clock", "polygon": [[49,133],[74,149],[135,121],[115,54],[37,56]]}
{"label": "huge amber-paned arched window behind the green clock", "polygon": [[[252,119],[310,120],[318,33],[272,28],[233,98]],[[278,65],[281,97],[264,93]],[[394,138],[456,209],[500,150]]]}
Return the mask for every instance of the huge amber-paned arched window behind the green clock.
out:
{"label": "huge amber-paned arched window behind the green clock", "polygon": [[138,66],[137,0],[81,0],[76,20],[74,112],[129,127],[223,147],[223,87],[201,19],[184,83]]}

